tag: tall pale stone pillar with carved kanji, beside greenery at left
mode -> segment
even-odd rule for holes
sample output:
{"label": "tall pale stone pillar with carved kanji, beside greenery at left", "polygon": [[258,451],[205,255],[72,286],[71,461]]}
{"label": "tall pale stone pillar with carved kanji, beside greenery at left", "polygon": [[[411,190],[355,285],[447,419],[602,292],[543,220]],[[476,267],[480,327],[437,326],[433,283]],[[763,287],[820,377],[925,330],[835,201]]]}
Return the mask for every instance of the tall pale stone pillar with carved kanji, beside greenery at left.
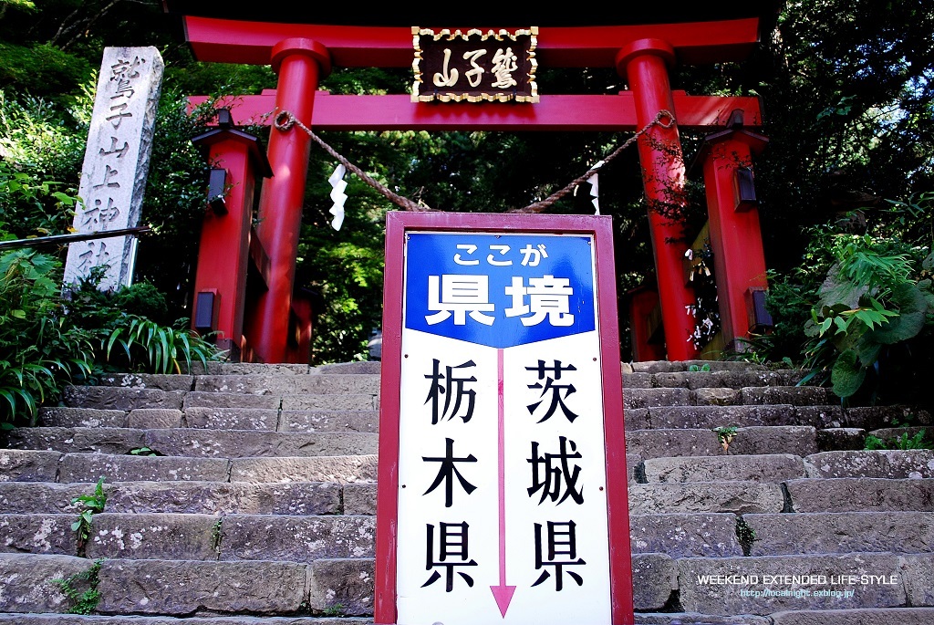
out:
{"label": "tall pale stone pillar with carved kanji, beside greenery at left", "polygon": [[[163,59],[155,48],[106,48],[97,80],[88,147],[75,211],[78,233],[103,233],[139,223],[149,171]],[[130,236],[72,243],[65,285],[106,266],[102,290],[133,279],[135,239]]]}

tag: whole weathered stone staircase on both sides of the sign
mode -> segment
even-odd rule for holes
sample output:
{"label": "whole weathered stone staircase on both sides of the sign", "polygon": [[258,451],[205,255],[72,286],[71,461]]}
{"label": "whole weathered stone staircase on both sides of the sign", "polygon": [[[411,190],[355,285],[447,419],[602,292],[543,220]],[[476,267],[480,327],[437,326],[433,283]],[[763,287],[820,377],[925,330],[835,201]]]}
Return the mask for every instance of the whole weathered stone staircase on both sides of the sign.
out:
{"label": "whole weathered stone staircase on both sides of the sign", "polygon": [[[746,363],[623,369],[637,623],[934,622],[934,452],[862,450],[927,413]],[[378,371],[70,389],[0,448],[0,623],[372,622]]]}

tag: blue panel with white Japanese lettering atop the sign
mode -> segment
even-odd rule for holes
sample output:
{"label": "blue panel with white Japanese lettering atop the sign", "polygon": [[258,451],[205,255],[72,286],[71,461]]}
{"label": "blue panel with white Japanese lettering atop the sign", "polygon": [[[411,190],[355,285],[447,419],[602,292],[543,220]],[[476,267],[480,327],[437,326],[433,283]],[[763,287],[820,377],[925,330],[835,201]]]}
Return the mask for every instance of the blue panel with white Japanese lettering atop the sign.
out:
{"label": "blue panel with white Japanese lettering atop the sign", "polygon": [[491,348],[596,329],[593,239],[408,233],[405,328]]}

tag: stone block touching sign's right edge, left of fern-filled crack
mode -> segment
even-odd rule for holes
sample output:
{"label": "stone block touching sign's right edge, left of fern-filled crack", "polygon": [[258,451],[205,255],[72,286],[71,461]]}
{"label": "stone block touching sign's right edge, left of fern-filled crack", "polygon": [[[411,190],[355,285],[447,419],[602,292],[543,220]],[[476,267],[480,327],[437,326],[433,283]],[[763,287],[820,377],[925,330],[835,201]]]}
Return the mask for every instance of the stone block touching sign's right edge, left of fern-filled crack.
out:
{"label": "stone block touching sign's right edge, left of fern-filled crack", "polygon": [[632,553],[672,558],[742,556],[732,514],[662,514],[630,517]]}

